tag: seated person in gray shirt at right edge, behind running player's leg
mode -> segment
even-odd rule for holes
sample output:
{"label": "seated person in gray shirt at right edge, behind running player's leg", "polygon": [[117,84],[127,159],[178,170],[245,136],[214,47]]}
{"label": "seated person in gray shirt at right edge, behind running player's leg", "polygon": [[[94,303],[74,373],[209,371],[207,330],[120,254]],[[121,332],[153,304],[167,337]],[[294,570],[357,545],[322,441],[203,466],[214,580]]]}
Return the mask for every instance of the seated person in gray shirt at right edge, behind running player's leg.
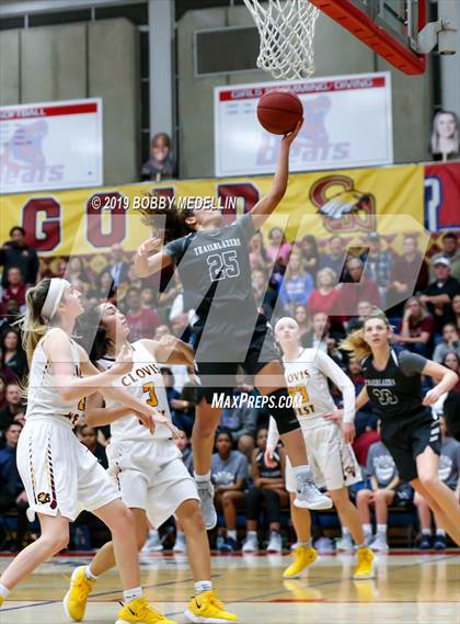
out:
{"label": "seated person in gray shirt at right edge, behind running player's leg", "polygon": [[[439,478],[448,488],[455,491],[457,500],[460,500],[460,442],[449,436],[446,429],[446,421],[439,417],[439,426],[442,435],[442,443],[439,457]],[[417,507],[418,520],[421,523],[421,543],[422,549],[434,547],[436,551],[446,548],[446,531],[436,524],[436,535],[432,537],[432,512],[426,500],[415,495],[414,503]]]}

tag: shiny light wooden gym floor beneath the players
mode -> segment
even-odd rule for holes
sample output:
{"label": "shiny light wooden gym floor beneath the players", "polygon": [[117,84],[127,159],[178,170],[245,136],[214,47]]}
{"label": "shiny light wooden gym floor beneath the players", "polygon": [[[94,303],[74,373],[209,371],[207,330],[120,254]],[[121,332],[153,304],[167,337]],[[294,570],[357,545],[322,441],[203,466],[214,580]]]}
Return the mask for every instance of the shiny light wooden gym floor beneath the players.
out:
{"label": "shiny light wooden gym floor beneath the players", "polygon": [[[0,557],[0,570],[9,557]],[[185,556],[142,556],[147,595],[184,622],[193,592]],[[60,556],[15,589],[0,611],[1,624],[64,624],[60,600],[74,566],[87,556]],[[460,551],[395,551],[377,557],[378,578],[352,579],[352,555],[322,556],[301,580],[284,581],[289,556],[232,555],[212,558],[219,595],[246,624],[456,624],[460,622]],[[97,581],[85,622],[115,622],[120,597],[116,572]]]}

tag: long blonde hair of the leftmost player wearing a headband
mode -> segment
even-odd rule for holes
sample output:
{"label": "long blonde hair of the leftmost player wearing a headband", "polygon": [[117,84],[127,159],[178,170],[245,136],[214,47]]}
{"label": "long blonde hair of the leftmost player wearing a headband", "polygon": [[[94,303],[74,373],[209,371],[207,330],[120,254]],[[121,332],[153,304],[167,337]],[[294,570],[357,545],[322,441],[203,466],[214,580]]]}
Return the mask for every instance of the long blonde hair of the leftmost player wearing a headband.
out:
{"label": "long blonde hair of the leftmost player wearing a headband", "polygon": [[25,294],[26,311],[18,322],[22,331],[22,345],[27,355],[28,365],[32,363],[32,356],[39,339],[49,329],[42,316],[42,308],[50,283],[49,279],[45,279],[33,288],[28,288]]}

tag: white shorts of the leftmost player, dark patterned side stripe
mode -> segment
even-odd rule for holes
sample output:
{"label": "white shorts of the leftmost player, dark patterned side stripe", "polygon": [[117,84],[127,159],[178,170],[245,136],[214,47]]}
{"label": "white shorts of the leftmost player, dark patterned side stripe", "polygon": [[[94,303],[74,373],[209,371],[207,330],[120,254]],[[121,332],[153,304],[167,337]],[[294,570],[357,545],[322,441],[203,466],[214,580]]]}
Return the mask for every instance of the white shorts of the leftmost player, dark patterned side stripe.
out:
{"label": "white shorts of the leftmost player, dark patterned side stripe", "polygon": [[26,421],[18,443],[18,469],[36,513],[76,520],[119,499],[96,457],[57,418]]}

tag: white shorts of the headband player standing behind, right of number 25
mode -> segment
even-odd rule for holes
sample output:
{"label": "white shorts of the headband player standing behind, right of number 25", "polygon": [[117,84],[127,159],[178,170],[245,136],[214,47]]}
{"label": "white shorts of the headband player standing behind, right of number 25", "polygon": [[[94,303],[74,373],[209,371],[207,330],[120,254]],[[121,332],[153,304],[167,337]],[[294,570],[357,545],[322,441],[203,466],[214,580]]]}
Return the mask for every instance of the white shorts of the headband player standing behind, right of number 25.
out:
{"label": "white shorts of the headband player standing behind, right of number 25", "polygon": [[[302,429],[308,460],[318,487],[337,490],[361,480],[361,470],[349,444],[345,444],[336,424]],[[296,477],[286,461],[286,489],[296,491]]]}

